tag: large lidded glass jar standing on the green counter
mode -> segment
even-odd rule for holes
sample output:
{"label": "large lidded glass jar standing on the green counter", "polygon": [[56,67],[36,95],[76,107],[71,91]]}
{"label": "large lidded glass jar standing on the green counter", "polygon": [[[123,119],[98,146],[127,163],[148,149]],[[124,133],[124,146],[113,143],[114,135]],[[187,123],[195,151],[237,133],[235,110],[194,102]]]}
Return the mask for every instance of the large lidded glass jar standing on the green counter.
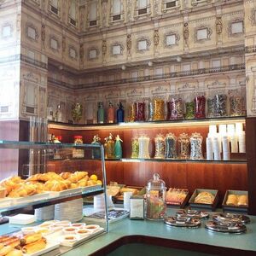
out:
{"label": "large lidded glass jar standing on the green counter", "polygon": [[146,218],[149,220],[163,220],[166,216],[166,183],[154,173],[153,179],[148,181],[146,194]]}

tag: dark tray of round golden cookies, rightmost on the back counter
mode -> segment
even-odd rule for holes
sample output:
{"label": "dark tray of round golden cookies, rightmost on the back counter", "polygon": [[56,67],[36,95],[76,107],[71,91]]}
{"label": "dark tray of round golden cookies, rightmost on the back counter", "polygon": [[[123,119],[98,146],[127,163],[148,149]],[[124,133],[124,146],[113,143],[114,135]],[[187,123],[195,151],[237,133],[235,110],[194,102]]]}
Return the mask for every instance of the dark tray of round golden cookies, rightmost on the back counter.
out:
{"label": "dark tray of round golden cookies, rightmost on the back counter", "polygon": [[248,209],[248,192],[243,190],[227,190],[222,203],[224,212],[245,212]]}

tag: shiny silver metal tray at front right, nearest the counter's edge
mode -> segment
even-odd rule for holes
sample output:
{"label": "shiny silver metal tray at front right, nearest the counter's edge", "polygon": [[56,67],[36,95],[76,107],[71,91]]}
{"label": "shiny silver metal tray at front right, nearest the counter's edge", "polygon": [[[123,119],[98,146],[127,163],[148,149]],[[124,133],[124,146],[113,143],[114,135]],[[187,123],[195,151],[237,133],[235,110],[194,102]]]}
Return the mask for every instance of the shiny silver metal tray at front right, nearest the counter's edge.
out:
{"label": "shiny silver metal tray at front right, nearest the counter's edge", "polygon": [[210,231],[223,232],[230,234],[242,234],[247,231],[247,227],[244,224],[232,223],[232,222],[218,222],[208,221],[205,228]]}

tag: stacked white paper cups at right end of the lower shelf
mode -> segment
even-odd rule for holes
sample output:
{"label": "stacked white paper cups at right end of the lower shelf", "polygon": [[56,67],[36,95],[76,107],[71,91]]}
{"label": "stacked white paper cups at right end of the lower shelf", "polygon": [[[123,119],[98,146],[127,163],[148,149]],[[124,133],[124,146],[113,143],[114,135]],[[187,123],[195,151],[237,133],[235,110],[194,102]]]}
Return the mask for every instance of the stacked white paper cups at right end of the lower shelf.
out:
{"label": "stacked white paper cups at right end of the lower shelf", "polygon": [[242,123],[209,125],[207,136],[207,160],[230,160],[231,153],[245,153],[245,131]]}

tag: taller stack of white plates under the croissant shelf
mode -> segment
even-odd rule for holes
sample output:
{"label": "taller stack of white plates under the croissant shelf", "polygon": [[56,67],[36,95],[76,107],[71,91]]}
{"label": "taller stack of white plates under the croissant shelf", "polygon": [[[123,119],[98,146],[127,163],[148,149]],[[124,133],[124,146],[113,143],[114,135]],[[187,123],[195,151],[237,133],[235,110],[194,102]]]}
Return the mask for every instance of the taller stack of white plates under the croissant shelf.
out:
{"label": "taller stack of white plates under the croissant shelf", "polygon": [[55,205],[55,219],[78,222],[83,218],[83,198]]}

